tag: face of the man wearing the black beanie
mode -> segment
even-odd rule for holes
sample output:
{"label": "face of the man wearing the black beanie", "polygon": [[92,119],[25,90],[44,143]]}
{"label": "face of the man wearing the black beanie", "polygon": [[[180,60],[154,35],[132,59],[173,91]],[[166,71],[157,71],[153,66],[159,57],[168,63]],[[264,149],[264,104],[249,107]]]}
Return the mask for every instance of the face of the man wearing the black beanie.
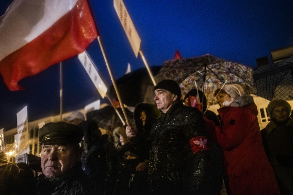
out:
{"label": "face of the man wearing the black beanie", "polygon": [[177,95],[174,95],[170,91],[164,89],[156,89],[155,98],[157,108],[163,113],[166,113],[171,106],[175,103]]}

